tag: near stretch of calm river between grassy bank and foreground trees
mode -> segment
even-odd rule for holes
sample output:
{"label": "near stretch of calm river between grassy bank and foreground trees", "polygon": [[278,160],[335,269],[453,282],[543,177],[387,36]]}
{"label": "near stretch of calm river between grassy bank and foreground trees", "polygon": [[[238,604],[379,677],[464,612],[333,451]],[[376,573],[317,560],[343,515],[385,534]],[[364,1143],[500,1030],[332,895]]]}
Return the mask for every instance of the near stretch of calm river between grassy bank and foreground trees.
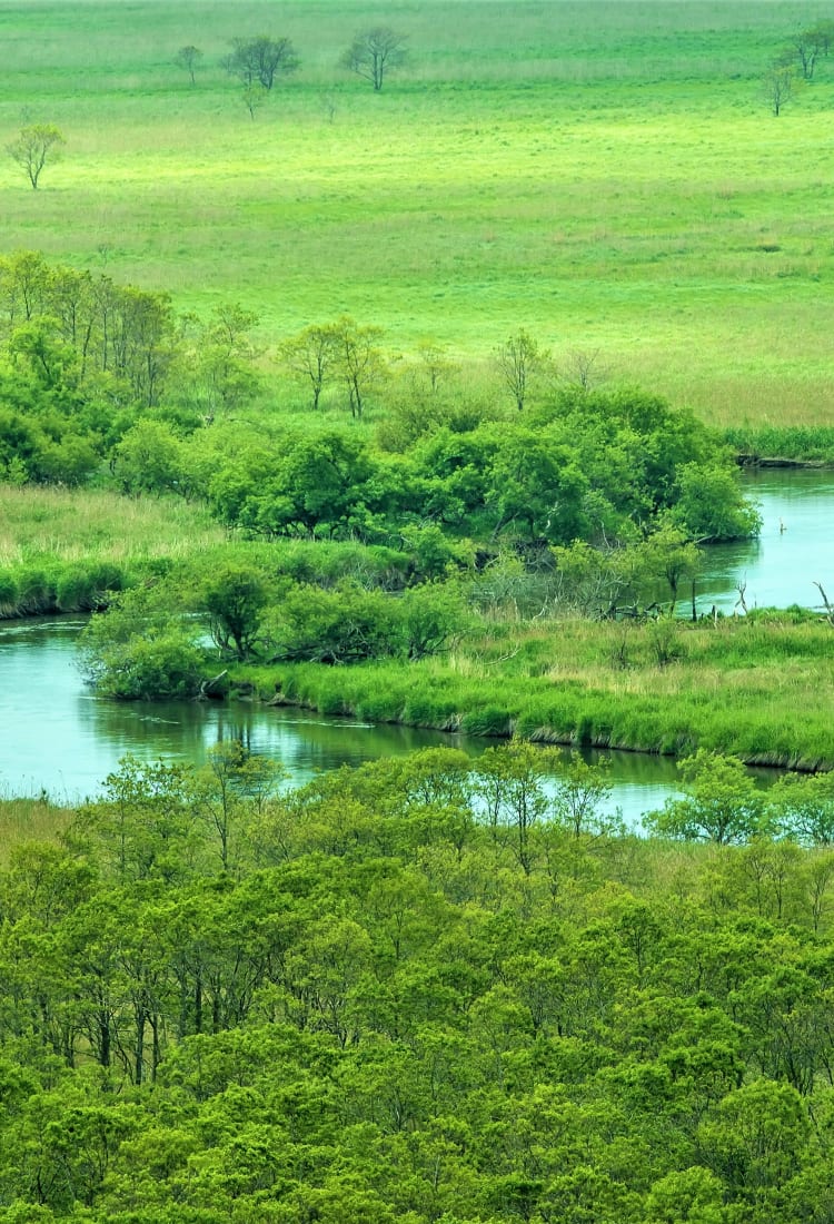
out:
{"label": "near stretch of calm river between grassy bank and foreground trees", "polygon": [[[0,794],[60,802],[95,794],[125,753],[201,763],[212,744],[240,739],[280,761],[295,783],[322,770],[445,744],[477,755],[489,741],[410,727],[322,718],[289,707],[246,703],[127,703],[97,698],[77,666],[82,621],[0,624]],[[589,759],[593,759],[591,754]],[[614,754],[618,807],[630,821],[660,807],[675,783],[669,759]]]}

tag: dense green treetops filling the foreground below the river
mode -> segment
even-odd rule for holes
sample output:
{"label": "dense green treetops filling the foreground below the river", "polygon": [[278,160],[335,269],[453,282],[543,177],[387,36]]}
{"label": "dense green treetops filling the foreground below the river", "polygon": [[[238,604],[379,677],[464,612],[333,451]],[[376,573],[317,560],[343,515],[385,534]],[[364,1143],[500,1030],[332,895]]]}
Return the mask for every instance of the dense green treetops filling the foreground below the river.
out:
{"label": "dense green treetops filling the foreground below the river", "polygon": [[641,841],[547,764],[128,759],[18,847],[0,1219],[830,1219],[830,851]]}

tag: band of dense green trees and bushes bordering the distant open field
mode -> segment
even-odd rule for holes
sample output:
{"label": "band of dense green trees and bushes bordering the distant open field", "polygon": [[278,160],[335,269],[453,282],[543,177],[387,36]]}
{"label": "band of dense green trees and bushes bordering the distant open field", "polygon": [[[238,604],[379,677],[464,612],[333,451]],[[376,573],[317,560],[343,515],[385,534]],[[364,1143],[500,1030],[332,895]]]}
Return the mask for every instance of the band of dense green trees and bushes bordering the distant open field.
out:
{"label": "band of dense green trees and bushes bordering the distant open field", "polygon": [[[756,530],[729,453],[690,412],[637,390],[574,387],[515,416],[467,416],[437,387],[429,404],[417,386],[404,403],[389,378],[399,408],[377,443],[345,425],[249,419],[267,389],[254,322],[238,306],[177,317],[166,294],[33,252],[0,259],[0,474],[76,485],[109,471],[125,492],[197,497],[267,537],[389,542],[437,524],[479,540],[627,542],[664,518],[698,539]],[[330,333],[361,416],[384,381],[375,329],[342,319]]]}

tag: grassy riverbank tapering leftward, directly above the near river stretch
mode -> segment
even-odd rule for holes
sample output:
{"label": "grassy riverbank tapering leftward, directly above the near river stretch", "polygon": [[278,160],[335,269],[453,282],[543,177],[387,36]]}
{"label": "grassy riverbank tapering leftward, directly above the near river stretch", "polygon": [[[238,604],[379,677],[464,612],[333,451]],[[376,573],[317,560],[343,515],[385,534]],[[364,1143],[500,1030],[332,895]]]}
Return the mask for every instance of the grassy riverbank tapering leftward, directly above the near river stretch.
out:
{"label": "grassy riverbank tapering leftward, directly above the near river stretch", "polygon": [[[662,661],[660,661],[662,660]],[[750,764],[834,766],[834,630],[789,614],[718,625],[507,627],[408,666],[241,671],[264,699],[468,734]]]}

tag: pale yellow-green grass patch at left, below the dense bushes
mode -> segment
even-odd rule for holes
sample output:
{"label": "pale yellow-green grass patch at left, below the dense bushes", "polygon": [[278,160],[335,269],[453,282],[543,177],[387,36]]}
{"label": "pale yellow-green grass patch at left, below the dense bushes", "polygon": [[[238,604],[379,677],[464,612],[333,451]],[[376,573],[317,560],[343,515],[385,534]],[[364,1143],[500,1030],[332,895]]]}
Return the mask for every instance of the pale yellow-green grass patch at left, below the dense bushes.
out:
{"label": "pale yellow-green grass patch at left, below the dense bushes", "polygon": [[224,537],[205,512],[182,501],[0,485],[0,567],[176,559]]}

